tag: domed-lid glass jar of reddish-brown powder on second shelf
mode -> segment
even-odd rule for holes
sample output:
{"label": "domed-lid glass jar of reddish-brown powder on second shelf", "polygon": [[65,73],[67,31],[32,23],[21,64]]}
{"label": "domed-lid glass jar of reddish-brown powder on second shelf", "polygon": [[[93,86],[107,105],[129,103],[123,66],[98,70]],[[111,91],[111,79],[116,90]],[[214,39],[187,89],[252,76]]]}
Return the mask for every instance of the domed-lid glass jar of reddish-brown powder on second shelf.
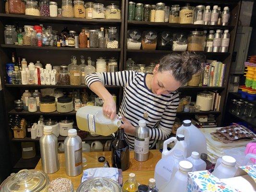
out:
{"label": "domed-lid glass jar of reddish-brown powder on second shelf", "polygon": [[157,33],[155,31],[144,31],[142,35],[142,49],[156,50],[157,47]]}

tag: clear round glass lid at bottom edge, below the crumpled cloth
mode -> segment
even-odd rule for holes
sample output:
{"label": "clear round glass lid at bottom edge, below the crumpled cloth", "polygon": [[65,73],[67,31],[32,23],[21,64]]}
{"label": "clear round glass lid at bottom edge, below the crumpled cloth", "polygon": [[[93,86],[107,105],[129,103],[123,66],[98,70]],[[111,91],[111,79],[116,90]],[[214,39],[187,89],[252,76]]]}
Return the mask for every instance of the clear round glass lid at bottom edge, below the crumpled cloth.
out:
{"label": "clear round glass lid at bottom edge, below the crumpled cloth", "polygon": [[82,182],[76,192],[122,192],[121,186],[114,180],[96,177]]}

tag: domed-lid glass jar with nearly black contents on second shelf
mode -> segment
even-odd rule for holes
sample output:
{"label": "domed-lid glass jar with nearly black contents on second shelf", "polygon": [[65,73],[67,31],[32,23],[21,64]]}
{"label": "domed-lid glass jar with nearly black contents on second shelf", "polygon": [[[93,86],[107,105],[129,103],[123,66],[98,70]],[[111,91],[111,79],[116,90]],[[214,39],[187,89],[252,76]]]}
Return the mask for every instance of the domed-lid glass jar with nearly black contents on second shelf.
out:
{"label": "domed-lid glass jar with nearly black contents on second shelf", "polygon": [[163,31],[158,35],[158,50],[171,50],[172,48],[172,33],[170,31]]}

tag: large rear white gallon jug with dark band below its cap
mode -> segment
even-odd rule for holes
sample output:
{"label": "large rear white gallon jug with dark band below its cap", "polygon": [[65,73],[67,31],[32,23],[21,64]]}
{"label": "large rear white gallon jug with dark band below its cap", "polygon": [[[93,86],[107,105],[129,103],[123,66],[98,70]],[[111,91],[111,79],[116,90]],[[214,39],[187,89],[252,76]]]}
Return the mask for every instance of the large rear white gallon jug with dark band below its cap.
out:
{"label": "large rear white gallon jug with dark band below its cap", "polygon": [[205,135],[195,125],[191,124],[191,120],[183,120],[183,125],[177,129],[176,135],[178,134],[185,136],[185,142],[187,143],[187,156],[184,156],[185,158],[191,156],[193,151],[197,151],[199,155],[201,153],[207,154]]}

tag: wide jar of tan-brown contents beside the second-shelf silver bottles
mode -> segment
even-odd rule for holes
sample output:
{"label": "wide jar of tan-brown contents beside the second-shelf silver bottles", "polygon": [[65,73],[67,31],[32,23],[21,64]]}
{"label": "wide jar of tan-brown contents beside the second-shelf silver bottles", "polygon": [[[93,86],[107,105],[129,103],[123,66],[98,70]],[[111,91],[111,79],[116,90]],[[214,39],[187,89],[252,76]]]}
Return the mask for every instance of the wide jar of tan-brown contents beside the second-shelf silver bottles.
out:
{"label": "wide jar of tan-brown contents beside the second-shelf silver bottles", "polygon": [[191,31],[188,36],[188,51],[203,51],[205,37],[203,31]]}

